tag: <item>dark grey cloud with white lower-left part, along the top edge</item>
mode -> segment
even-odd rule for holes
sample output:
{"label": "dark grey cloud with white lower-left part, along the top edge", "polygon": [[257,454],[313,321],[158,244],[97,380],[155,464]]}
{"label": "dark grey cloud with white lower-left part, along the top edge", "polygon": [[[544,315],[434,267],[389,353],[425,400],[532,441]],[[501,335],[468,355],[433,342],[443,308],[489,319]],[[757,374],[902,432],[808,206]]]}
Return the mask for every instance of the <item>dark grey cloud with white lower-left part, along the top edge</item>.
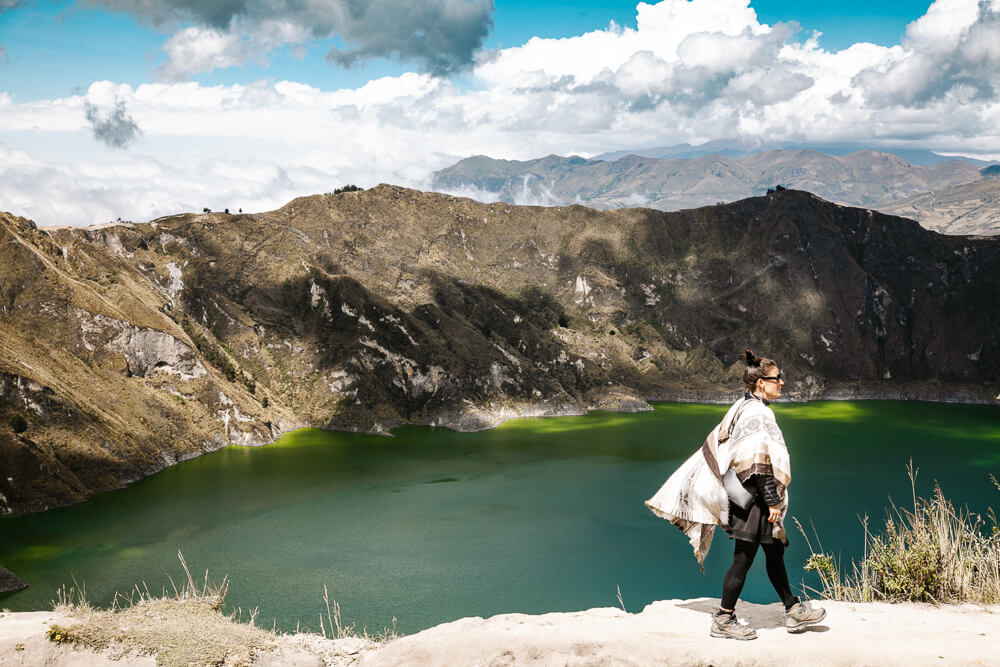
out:
{"label": "dark grey cloud with white lower-left part, along the top edge", "polygon": [[[8,0],[9,1],[9,0]],[[164,46],[161,74],[197,72],[260,60],[284,44],[338,37],[327,58],[352,66],[370,58],[413,62],[435,75],[473,63],[493,27],[493,0],[90,0],[161,28],[181,22]]]}

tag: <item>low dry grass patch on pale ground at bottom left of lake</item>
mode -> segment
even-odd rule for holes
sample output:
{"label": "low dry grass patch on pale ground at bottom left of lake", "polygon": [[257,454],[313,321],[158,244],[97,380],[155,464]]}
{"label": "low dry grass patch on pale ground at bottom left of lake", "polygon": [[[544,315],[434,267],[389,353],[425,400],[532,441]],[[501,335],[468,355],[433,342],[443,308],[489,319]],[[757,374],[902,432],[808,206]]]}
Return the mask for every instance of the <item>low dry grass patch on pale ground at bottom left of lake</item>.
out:
{"label": "low dry grass patch on pale ground at bottom left of lake", "polygon": [[[179,551],[177,557],[186,581],[179,588],[171,581],[173,594],[164,592],[156,597],[145,585],[135,586],[128,595],[116,594],[108,610],[93,608],[87,602],[83,587],[74,580],[75,586],[64,587],[58,592],[58,599],[53,601],[54,609],[73,618],[74,622],[50,627],[49,639],[107,652],[113,659],[144,654],[155,656],[157,665],[187,667],[251,665],[255,656],[281,646],[305,647],[313,655],[322,656],[327,664],[335,664],[338,657],[353,661],[359,651],[375,648],[396,637],[395,619],[393,630],[384,630],[375,636],[367,632],[358,636],[353,625],[343,624],[340,605],[330,600],[325,586],[323,600],[329,632],[321,614],[322,637],[279,635],[273,630],[259,628],[255,625],[257,609],[250,610],[245,622],[241,609],[228,615],[222,612],[229,588],[228,578],[214,584],[206,572],[199,586]],[[345,639],[352,641],[339,642],[341,646],[334,645],[337,642],[324,645],[326,640]]]}

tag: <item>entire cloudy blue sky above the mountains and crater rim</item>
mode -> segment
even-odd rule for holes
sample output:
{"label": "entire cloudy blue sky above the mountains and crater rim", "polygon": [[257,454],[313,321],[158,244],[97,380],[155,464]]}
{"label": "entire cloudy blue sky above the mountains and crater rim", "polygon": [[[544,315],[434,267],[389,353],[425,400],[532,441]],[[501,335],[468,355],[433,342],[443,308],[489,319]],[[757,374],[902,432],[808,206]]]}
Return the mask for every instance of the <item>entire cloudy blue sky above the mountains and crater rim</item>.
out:
{"label": "entire cloudy blue sky above the mountains and crater rim", "polygon": [[0,209],[42,224],[710,140],[998,159],[1000,0],[0,0]]}

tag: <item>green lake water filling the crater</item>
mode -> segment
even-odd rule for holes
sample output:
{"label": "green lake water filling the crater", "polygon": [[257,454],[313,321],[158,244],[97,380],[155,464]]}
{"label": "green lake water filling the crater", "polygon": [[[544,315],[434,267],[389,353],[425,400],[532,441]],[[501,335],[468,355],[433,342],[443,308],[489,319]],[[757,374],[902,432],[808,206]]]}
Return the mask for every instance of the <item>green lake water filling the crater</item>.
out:
{"label": "green lake water filling the crater", "polygon": [[[904,402],[776,404],[792,459],[791,515],[827,551],[862,549],[891,496],[934,481],[958,505],[1000,508],[1000,409]],[[0,519],[0,563],[30,584],[0,606],[47,609],[76,581],[94,604],[183,573],[228,575],[228,609],[318,630],[323,585],[346,621],[403,632],[463,616],[718,596],[732,557],[716,534],[699,572],[684,536],[643,505],[726,406],[525,419],[481,433],[407,427],[395,437],[299,431],[229,447],[82,505]],[[807,551],[789,522],[793,584]],[[774,600],[754,564],[743,598]],[[244,616],[245,618],[245,616]]]}

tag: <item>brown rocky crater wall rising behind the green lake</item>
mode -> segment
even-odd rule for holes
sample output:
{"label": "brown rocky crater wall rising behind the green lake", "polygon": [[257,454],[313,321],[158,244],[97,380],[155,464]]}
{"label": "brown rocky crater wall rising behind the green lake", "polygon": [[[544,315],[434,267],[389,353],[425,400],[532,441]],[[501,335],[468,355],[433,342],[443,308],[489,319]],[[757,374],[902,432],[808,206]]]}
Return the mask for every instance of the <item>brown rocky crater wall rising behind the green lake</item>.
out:
{"label": "brown rocky crater wall rising behind the green lake", "polygon": [[1000,240],[784,191],[678,213],[382,185],[263,214],[0,214],[0,509],[299,426],[479,429],[728,400],[992,401]]}

